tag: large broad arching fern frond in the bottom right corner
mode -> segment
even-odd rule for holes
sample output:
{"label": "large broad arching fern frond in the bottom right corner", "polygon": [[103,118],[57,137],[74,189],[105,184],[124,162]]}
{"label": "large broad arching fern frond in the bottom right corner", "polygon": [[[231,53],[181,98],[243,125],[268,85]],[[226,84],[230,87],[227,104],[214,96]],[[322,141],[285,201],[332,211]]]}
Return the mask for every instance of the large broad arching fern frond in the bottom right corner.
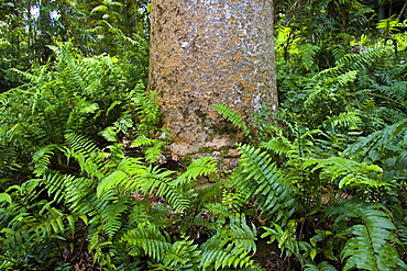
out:
{"label": "large broad arching fern frond in the bottom right corner", "polygon": [[348,202],[342,207],[337,206],[330,210],[330,216],[340,214],[336,223],[346,217],[361,218],[363,222],[339,234],[342,238],[349,238],[341,252],[341,259],[345,262],[343,270],[358,268],[384,271],[407,268],[399,259],[395,246],[391,244],[399,244],[392,233],[395,226],[388,214],[380,211],[381,207],[378,204]]}

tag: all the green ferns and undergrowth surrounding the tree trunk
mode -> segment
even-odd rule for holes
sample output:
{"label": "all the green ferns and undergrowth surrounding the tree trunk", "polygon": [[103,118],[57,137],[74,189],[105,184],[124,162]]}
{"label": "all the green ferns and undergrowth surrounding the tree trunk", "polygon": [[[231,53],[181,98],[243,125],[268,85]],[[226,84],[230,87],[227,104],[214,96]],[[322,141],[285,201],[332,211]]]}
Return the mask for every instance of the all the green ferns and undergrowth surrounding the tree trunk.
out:
{"label": "all the green ferns and undergrowth surrounding the tree trunk", "polygon": [[131,35],[113,3],[72,9],[98,26],[73,25],[30,67],[6,59],[29,56],[7,42],[22,30],[0,32],[1,270],[267,270],[260,241],[280,270],[407,270],[406,23],[356,1],[278,5],[279,109],[245,123],[213,105],[245,135],[222,172],[170,159],[146,21]]}

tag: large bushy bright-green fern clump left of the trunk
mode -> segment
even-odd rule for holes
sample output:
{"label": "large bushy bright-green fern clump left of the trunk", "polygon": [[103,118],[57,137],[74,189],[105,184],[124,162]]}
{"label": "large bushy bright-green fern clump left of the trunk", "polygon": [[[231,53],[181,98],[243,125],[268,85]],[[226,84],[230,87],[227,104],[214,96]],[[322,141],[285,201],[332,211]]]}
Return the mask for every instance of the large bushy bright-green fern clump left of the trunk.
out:
{"label": "large bushy bright-green fern clump left of the trunk", "polygon": [[[21,154],[19,161],[4,160],[3,165],[26,165],[31,153],[36,154],[36,170],[55,165],[47,157],[67,133],[80,133],[101,143],[97,135],[108,126],[128,136],[148,135],[154,129],[160,118],[155,94],[146,92],[140,82],[129,83],[129,74],[117,58],[82,58],[69,44],[53,49],[57,55],[54,65],[40,66],[32,74],[21,71],[30,82],[0,94],[4,146],[0,151]],[[156,150],[150,153],[148,159],[156,159]]]}

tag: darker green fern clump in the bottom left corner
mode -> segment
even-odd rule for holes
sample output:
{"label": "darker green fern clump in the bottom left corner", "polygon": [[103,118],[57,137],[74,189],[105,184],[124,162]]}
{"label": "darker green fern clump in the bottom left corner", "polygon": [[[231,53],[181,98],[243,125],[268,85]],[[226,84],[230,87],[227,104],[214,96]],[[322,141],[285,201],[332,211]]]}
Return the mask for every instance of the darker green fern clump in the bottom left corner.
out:
{"label": "darker green fern clump in the bottom left corner", "polygon": [[53,201],[37,199],[40,184],[38,179],[33,179],[21,187],[13,185],[9,188],[8,196],[3,193],[8,206],[0,203],[0,240],[3,245],[0,251],[14,262],[14,268],[36,269],[56,259],[61,248],[58,240],[65,240],[76,232],[75,216],[55,207]]}

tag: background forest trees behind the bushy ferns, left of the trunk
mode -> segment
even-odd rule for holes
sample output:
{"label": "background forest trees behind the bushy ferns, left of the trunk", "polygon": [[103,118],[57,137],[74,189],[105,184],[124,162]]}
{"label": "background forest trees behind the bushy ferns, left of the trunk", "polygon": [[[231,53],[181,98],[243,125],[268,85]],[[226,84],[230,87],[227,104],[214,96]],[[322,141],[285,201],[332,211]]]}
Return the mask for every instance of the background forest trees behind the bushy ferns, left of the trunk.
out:
{"label": "background forest trees behind the bushy ferns, left of the trunk", "polygon": [[147,4],[147,0],[124,3],[2,1],[0,92],[24,82],[10,72],[11,68],[26,71],[33,64],[55,60],[48,47],[55,42],[72,42],[86,56],[105,53],[121,56],[123,64],[132,70],[132,78],[145,80],[150,29]]}

